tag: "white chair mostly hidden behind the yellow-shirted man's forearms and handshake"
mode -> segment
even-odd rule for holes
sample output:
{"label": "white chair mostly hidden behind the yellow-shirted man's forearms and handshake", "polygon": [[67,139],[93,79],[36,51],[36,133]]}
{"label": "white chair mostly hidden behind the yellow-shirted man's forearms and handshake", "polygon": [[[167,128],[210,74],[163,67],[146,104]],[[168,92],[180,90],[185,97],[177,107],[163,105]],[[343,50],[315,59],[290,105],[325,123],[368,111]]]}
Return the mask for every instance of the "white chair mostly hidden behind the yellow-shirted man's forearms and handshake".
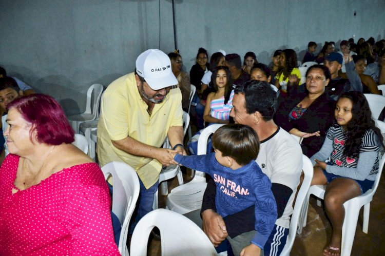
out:
{"label": "white chair mostly hidden behind the yellow-shirted man's forearms and handshake", "polygon": [[[190,123],[190,116],[185,111],[183,111],[183,132],[186,134],[187,127]],[[168,139],[166,139],[165,143],[163,144],[163,147],[171,148],[169,145]],[[168,194],[168,186],[167,186],[167,180],[170,180],[174,178],[175,176],[178,176],[178,183],[179,185],[183,184],[183,176],[181,167],[179,165],[169,165],[161,170],[161,173],[159,174],[159,184],[161,186],[161,192],[163,195]],[[158,209],[158,190],[155,192],[154,195],[154,202],[152,205],[152,209]]]}

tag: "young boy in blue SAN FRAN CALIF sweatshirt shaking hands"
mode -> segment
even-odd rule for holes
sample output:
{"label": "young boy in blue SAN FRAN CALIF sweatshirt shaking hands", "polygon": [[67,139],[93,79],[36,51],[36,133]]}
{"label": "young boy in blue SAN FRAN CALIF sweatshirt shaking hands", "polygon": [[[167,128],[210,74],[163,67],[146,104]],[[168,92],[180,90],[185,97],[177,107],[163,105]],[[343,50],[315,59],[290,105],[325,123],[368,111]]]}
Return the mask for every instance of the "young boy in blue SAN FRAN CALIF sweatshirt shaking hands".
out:
{"label": "young boy in blue SAN FRAN CALIF sweatshirt shaking hands", "polygon": [[255,205],[257,232],[241,254],[259,255],[277,220],[277,205],[270,180],[255,162],[259,152],[258,135],[249,126],[228,124],[214,133],[212,143],[213,153],[175,154],[174,159],[213,177],[217,185],[216,208],[222,217]]}

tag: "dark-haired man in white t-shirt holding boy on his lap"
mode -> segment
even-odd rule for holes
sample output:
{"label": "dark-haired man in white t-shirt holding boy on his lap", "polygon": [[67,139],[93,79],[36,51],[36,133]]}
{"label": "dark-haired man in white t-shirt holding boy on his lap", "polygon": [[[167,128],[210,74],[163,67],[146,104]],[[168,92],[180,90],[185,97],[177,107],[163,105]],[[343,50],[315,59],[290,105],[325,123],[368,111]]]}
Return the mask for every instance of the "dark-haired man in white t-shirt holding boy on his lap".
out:
{"label": "dark-haired man in white t-shirt holding boy on his lap", "polygon": [[[269,84],[250,81],[235,89],[233,109],[230,112],[236,123],[248,125],[257,132],[261,144],[256,162],[272,182],[278,219],[262,248],[265,255],[279,255],[286,243],[302,169],[301,147],[292,135],[274,123],[276,109],[276,93]],[[215,188],[214,182],[208,182],[203,196],[203,230],[215,246],[227,238],[234,253],[239,254],[255,234],[254,206],[222,219],[215,212]],[[186,215],[196,221],[192,214],[196,213]]]}

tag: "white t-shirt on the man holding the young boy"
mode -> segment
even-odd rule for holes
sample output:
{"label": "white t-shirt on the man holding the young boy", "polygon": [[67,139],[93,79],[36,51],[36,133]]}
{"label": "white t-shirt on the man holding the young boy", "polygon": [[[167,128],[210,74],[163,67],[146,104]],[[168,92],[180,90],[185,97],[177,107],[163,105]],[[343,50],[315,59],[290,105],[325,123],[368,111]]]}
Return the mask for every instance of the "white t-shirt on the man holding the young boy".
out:
{"label": "white t-shirt on the man holding the young boy", "polygon": [[272,183],[285,185],[293,190],[281,218],[276,225],[290,227],[293,201],[302,172],[302,149],[299,143],[282,128],[261,142],[257,164]]}

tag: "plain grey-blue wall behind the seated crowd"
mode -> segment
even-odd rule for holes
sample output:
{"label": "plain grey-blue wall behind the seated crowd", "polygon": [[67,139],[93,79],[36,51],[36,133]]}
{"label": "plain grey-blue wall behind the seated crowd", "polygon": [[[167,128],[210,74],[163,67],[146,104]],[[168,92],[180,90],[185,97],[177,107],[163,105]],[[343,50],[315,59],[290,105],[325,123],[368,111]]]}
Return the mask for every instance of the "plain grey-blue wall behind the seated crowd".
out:
{"label": "plain grey-blue wall behind the seated crowd", "polygon": [[[189,71],[199,47],[268,63],[274,50],[385,37],[385,1],[175,0],[177,43]],[[174,50],[170,0],[1,0],[0,66],[67,114],[84,110],[93,83],[134,69],[145,49]],[[356,12],[356,15],[354,15]]]}

